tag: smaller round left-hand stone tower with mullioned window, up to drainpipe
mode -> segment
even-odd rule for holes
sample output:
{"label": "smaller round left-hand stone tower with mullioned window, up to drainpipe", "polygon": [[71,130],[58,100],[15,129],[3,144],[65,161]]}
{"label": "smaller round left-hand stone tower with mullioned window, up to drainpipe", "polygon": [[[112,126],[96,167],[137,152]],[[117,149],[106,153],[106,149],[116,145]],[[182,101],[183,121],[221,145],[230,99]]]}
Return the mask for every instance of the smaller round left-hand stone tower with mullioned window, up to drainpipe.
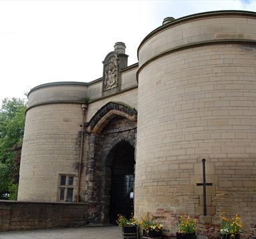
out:
{"label": "smaller round left-hand stone tower with mullioned window, up to drainpipe", "polygon": [[86,83],[48,83],[29,93],[18,200],[76,200]]}

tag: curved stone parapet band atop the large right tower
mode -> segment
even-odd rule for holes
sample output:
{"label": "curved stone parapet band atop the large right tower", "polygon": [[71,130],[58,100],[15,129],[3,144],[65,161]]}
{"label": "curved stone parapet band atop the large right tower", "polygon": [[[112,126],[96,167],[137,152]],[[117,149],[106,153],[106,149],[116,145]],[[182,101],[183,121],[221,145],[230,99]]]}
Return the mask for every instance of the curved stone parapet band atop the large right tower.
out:
{"label": "curved stone parapet band atop the large right tower", "polygon": [[218,42],[256,41],[256,13],[216,11],[181,17],[150,33],[138,47],[139,67],[182,48]]}

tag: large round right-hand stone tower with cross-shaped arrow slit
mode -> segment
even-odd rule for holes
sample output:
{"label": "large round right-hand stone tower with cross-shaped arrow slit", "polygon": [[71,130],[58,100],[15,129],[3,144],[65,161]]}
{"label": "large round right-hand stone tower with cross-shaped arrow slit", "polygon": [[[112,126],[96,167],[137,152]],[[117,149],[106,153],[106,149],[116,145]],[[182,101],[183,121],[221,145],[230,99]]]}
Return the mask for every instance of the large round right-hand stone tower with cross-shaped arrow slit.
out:
{"label": "large round right-hand stone tower with cross-shaped arrow slit", "polygon": [[225,211],[239,214],[252,233],[256,13],[217,11],[164,23],[138,48],[136,216],[157,212],[175,232],[179,214],[197,215],[214,238],[219,232],[207,228]]}

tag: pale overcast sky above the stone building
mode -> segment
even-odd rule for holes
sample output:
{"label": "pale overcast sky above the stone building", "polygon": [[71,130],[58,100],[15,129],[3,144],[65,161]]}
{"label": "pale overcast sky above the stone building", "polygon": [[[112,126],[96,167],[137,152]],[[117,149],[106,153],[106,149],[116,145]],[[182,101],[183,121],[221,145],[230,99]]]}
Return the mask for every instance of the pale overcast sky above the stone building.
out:
{"label": "pale overcast sky above the stone building", "polygon": [[132,65],[138,45],[164,17],[227,9],[256,11],[256,0],[0,0],[0,101],[25,98],[43,83],[98,79],[117,41]]}

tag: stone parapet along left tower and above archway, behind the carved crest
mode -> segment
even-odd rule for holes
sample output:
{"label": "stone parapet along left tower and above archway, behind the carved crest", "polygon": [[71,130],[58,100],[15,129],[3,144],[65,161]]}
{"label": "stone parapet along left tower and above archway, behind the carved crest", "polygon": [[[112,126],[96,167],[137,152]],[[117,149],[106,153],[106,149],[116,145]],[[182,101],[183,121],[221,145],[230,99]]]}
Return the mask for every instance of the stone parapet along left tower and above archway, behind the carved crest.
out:
{"label": "stone parapet along left tower and above archway, behind the carved crest", "polygon": [[120,87],[107,95],[102,93],[102,78],[90,83],[55,82],[39,85],[31,89],[28,95],[28,109],[47,104],[81,104],[99,101],[124,91],[136,88],[136,71],[138,64],[122,69],[120,72]]}

